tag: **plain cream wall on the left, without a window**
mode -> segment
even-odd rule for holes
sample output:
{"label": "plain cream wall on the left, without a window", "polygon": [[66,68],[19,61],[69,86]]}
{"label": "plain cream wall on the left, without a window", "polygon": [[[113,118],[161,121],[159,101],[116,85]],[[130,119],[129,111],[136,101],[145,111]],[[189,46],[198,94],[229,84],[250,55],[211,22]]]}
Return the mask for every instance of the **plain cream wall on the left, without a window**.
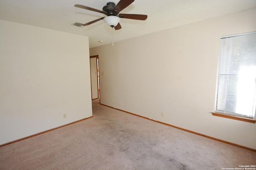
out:
{"label": "plain cream wall on the left, without a window", "polygon": [[0,20],[0,144],[90,116],[88,37]]}

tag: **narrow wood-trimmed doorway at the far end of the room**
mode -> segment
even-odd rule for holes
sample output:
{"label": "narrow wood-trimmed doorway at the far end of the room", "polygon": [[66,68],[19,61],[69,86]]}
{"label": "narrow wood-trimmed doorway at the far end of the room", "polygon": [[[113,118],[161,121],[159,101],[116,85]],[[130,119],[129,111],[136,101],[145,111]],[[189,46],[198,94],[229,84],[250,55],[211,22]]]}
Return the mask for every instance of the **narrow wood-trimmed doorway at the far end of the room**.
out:
{"label": "narrow wood-trimmed doorway at the far end of the room", "polygon": [[99,56],[90,56],[92,100],[100,98]]}

